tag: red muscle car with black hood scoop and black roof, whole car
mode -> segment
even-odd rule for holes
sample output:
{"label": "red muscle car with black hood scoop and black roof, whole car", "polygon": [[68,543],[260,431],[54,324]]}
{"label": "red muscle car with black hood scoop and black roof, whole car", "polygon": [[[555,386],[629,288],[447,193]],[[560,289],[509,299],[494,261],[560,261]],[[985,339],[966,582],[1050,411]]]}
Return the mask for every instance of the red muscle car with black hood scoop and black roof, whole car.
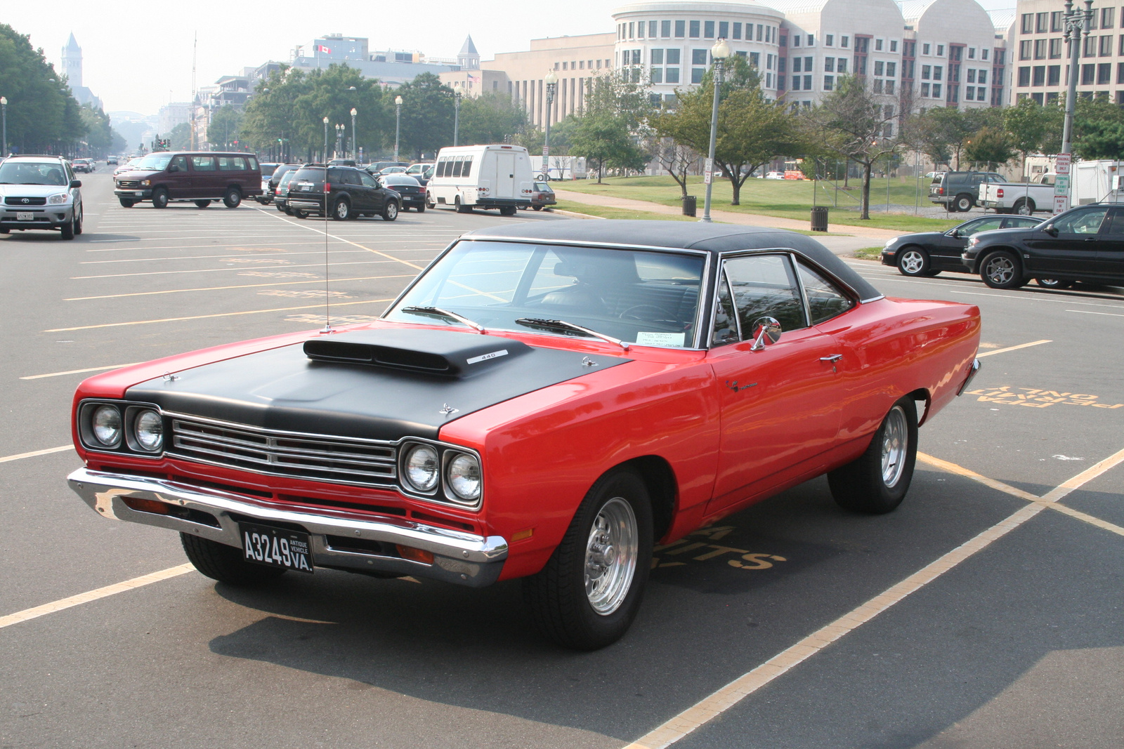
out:
{"label": "red muscle car with black hood scoop and black roof, whole car", "polygon": [[886,299],[808,237],[670,221],[468,234],[377,322],[101,374],[74,395],[107,518],[230,584],[524,578],[541,631],[622,637],[654,544],[821,474],[892,510],[979,310]]}

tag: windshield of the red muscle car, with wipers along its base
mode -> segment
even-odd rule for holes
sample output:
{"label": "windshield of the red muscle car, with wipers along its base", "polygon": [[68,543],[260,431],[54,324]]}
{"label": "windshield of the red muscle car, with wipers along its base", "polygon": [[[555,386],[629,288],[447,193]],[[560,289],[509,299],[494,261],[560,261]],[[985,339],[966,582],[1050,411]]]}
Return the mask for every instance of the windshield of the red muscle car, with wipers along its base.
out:
{"label": "windshield of the red muscle car, with wipers along its base", "polygon": [[461,241],[386,318],[419,322],[404,308],[436,307],[484,328],[531,331],[516,320],[565,320],[641,346],[682,348],[694,345],[704,266],[686,253]]}

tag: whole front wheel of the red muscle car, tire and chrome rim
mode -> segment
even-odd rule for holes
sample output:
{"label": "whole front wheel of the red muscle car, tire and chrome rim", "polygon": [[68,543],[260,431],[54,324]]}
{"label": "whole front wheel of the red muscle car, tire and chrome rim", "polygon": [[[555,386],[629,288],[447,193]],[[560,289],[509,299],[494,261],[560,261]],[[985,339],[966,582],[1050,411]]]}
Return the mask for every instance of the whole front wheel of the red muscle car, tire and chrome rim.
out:
{"label": "whole front wheel of the red muscle car, tire and chrome rim", "polygon": [[620,639],[640,610],[652,558],[652,504],[632,471],[586,494],[542,572],[524,579],[536,628],[559,645],[596,650]]}

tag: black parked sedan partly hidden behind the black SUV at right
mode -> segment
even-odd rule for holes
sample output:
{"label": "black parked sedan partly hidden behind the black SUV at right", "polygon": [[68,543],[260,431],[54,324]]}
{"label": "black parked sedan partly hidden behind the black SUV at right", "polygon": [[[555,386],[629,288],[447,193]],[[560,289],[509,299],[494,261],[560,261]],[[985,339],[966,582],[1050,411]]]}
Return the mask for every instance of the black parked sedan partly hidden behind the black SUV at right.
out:
{"label": "black parked sedan partly hidden behind the black SUV at right", "polygon": [[973,236],[992,229],[1025,229],[1041,222],[1042,219],[1031,216],[985,216],[948,231],[905,234],[886,243],[882,265],[895,265],[901,275],[908,276],[932,276],[941,271],[968,273],[960,256]]}

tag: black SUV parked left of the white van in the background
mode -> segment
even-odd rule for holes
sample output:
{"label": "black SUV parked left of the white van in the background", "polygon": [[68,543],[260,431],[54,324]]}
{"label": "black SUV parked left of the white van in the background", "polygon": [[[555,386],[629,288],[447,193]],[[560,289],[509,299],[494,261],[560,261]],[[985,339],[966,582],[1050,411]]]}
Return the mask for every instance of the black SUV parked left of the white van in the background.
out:
{"label": "black SUV parked left of the white van in the background", "polygon": [[327,213],[338,220],[378,213],[384,221],[393,221],[398,218],[402,197],[383,188],[363,170],[305,164],[289,181],[285,204],[299,219],[309,213],[324,216],[327,209]]}

